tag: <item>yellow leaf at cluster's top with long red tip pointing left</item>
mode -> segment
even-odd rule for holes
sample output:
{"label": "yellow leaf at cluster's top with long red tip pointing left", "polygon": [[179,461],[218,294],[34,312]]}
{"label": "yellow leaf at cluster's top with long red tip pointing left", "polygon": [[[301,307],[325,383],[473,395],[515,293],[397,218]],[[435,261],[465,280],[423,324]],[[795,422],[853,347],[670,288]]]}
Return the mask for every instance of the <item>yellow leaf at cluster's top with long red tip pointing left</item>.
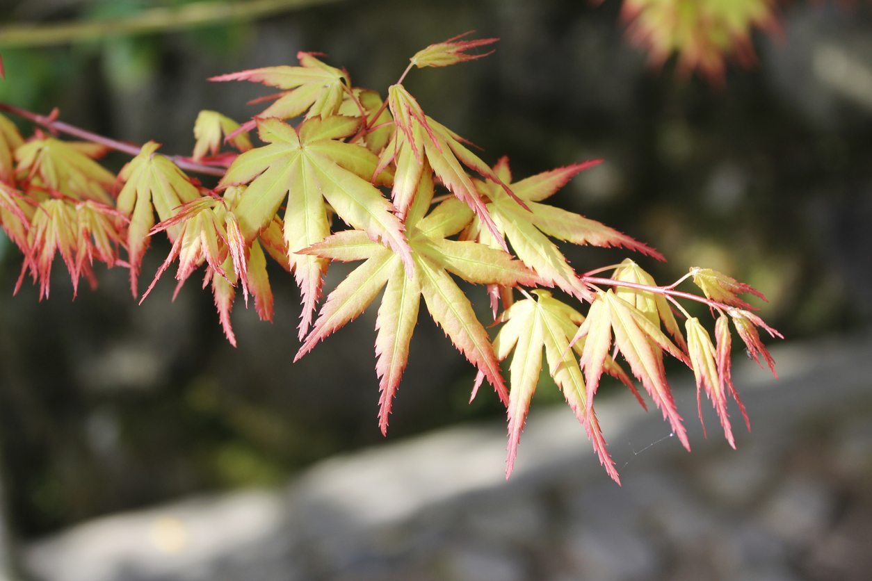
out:
{"label": "yellow leaf at cluster's top with long red tip pointing left", "polygon": [[242,124],[242,131],[255,128],[257,118],[290,119],[306,113],[306,118],[335,115],[348,91],[349,78],[345,71],[318,60],[317,53],[297,52],[300,66],[268,66],[250,71],[232,72],[210,78],[210,81],[252,81],[277,87],[283,91],[262,100],[276,99],[255,118]]}

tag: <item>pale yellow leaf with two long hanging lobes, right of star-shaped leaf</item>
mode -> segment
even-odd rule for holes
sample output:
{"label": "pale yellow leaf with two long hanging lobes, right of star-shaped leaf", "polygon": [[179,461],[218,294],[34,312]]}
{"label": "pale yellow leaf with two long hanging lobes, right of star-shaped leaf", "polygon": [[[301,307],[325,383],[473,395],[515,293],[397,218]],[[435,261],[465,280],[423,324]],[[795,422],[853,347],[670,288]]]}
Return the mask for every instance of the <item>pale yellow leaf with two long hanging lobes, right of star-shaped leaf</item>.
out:
{"label": "pale yellow leaf with two long hanging lobes, right of star-shaped leaf", "polygon": [[[593,399],[585,388],[582,369],[579,367],[570,341],[578,326],[584,321],[582,314],[561,301],[557,301],[548,291],[534,290],[535,299],[528,297],[515,302],[503,311],[498,322],[505,323],[494,340],[497,358],[502,361],[514,349],[509,364],[508,404],[508,459],[506,477],[514,468],[521,429],[527,419],[530,401],[535,393],[542,369],[542,348],[548,361],[548,372],[561,388],[569,408],[587,430],[600,463],[615,482],[621,483],[615,470],[615,462],[606,449],[603,432],[593,409]],[[582,346],[576,342],[576,350]],[[607,371],[628,381],[623,370],[610,361]]]}

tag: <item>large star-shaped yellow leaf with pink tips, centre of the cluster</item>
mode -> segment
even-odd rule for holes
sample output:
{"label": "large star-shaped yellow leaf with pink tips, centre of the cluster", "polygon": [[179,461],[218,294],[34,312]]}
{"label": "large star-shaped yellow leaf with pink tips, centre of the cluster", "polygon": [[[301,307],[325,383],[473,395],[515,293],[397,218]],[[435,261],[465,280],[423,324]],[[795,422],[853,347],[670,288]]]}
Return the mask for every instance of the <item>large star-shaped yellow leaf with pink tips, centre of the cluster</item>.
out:
{"label": "large star-shaped yellow leaf with pink tips, centre of the cluster", "polygon": [[415,268],[412,276],[404,272],[401,257],[392,248],[368,240],[365,233],[346,231],[333,234],[304,251],[330,260],[365,260],[330,295],[315,326],[303,341],[295,361],[345,323],[356,318],[387,286],[378,308],[376,371],[381,390],[379,426],[387,429],[391,403],[408,359],[409,341],[418,321],[423,296],[433,321],[451,338],[454,347],[487,377],[503,402],[508,392],[500,375],[487,331],[473,307],[450,274],[477,284],[514,286],[535,284],[537,278],[508,253],[471,241],[447,240],[460,232],[472,218],[457,199],[447,199],[424,215],[433,199],[431,172],[422,175],[419,191],[406,216]]}

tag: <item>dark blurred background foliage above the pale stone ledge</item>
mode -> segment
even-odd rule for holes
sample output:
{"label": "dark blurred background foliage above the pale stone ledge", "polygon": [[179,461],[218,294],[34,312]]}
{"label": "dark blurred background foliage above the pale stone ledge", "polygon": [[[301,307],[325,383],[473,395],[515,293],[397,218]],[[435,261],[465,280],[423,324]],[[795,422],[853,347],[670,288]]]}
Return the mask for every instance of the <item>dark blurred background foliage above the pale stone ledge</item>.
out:
{"label": "dark blurred background foliage above the pale stone ledge", "polygon": [[[13,1],[0,18],[114,17],[146,4]],[[785,7],[783,31],[755,37],[760,62],[731,68],[722,88],[678,78],[671,64],[647,66],[624,39],[618,9],[579,0],[330,2],[255,24],[58,47],[4,49],[0,36],[0,100],[38,112],[58,106],[75,125],[184,153],[197,111],[247,118],[258,110],[245,102],[269,91],[210,76],[324,51],[354,84],[384,93],[415,51],[475,29],[501,37],[493,56],[414,71],[407,87],[484,159],[508,155],[525,176],[602,157],[558,203],[657,247],[668,263],[640,262],[658,281],[690,266],[732,274],[766,293],[762,314],[788,340],[867,325],[869,8]],[[112,155],[109,164],[125,160]],[[167,251],[154,241],[144,277]],[[583,248],[570,258],[584,271],[623,254]],[[172,282],[162,280],[138,307],[117,269],[71,304],[58,268],[51,301],[39,304],[31,287],[11,296],[20,262],[3,240],[0,441],[10,519],[24,536],[194,490],[275,483],[381,439],[374,312],[292,366],[299,294],[279,269],[276,321],[256,321],[237,304],[234,349],[194,281],[171,302]],[[344,272],[331,267],[327,286]],[[470,292],[485,320],[483,290]],[[501,414],[490,393],[467,405],[472,380],[473,368],[422,317],[389,437]],[[546,382],[540,393],[542,402],[560,399]]]}

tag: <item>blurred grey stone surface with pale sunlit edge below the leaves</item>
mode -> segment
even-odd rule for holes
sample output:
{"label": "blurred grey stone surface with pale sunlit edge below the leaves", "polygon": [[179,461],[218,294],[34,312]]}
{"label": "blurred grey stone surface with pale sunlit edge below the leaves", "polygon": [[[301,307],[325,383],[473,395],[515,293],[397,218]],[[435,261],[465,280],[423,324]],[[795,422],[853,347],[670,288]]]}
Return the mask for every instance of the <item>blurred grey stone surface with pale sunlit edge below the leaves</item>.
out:
{"label": "blurred grey stone surface with pale sunlit edge below the leaves", "polygon": [[[687,455],[657,414],[603,399],[616,456],[630,448],[620,488],[569,412],[539,409],[508,483],[501,425],[445,429],[332,458],[281,490],[85,523],[25,547],[24,563],[44,581],[859,580],[872,566],[870,352],[868,336],[778,349],[780,382],[739,366],[753,433],[738,450],[691,430]],[[691,415],[692,387],[677,391]]]}

